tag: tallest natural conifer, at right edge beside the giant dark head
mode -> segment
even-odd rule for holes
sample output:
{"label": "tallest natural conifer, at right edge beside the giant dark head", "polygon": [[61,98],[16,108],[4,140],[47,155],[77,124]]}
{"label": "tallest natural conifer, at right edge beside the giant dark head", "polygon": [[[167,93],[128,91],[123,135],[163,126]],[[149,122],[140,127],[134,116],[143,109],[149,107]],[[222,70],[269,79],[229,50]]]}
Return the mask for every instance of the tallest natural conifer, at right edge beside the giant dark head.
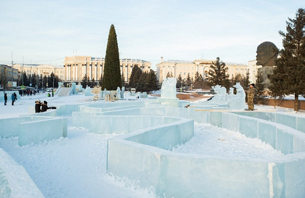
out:
{"label": "tallest natural conifer, at right edge beside the giant dark head", "polygon": [[273,83],[269,89],[281,94],[294,94],[294,110],[298,111],[298,96],[305,92],[305,10],[298,9],[294,19],[286,21],[286,33],[283,36],[283,47],[276,69],[270,76]]}

